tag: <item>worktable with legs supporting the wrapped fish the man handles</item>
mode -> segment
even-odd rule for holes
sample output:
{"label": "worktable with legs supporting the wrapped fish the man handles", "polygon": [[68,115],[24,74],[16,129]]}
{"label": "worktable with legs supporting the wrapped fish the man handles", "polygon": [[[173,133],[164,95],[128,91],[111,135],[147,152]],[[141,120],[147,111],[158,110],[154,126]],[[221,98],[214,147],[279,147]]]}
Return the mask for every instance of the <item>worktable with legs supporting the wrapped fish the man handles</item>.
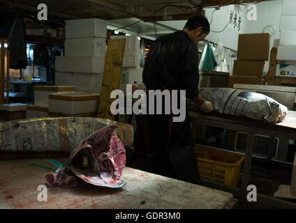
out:
{"label": "worktable with legs supporting the wrapped fish the man handles", "polygon": [[216,112],[212,114],[205,114],[201,112],[190,111],[188,112],[188,115],[191,123],[193,124],[193,132],[196,132],[197,125],[200,124],[229,130],[237,130],[239,132],[246,132],[248,134],[245,154],[246,157],[244,160],[244,173],[241,185],[242,193],[246,193],[246,187],[249,185],[255,134],[264,134],[270,136],[269,152],[267,157],[268,160],[272,160],[275,137],[279,137],[279,139],[296,140],[296,112],[294,111],[288,111],[286,119],[276,124],[256,121],[252,120],[251,118],[239,118],[235,116],[223,115]]}

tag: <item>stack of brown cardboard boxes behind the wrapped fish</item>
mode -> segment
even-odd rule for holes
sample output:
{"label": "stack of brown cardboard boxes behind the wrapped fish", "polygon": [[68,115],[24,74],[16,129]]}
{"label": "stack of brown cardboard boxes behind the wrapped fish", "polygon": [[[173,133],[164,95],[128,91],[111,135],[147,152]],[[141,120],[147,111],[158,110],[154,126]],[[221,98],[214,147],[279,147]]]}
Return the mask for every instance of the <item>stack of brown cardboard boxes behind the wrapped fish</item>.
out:
{"label": "stack of brown cardboard boxes behind the wrapped fish", "polygon": [[265,61],[269,59],[269,43],[269,33],[239,35],[230,88],[233,84],[260,84]]}

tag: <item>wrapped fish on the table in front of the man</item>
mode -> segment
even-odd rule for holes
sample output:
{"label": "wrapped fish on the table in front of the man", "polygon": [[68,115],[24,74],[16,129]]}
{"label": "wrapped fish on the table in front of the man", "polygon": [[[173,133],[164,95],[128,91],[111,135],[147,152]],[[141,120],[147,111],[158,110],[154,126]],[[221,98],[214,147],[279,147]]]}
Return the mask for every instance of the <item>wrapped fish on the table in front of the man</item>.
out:
{"label": "wrapped fish on the table in front of the man", "polygon": [[250,91],[238,89],[200,89],[205,100],[212,102],[216,112],[232,116],[253,118],[268,123],[283,121],[288,109],[276,100]]}

